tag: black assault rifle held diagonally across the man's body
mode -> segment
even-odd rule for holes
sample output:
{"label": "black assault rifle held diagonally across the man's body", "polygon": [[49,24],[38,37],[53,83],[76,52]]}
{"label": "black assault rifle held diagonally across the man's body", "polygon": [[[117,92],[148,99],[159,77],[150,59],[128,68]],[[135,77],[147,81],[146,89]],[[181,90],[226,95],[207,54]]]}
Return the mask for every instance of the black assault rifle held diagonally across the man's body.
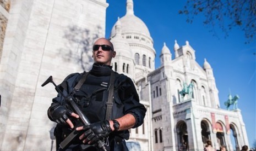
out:
{"label": "black assault rifle held diagonally across the man's body", "polygon": [[[66,103],[69,105],[70,108],[72,108],[73,112],[79,115],[79,120],[81,121],[81,123],[84,126],[88,126],[90,125],[90,121],[88,120],[88,118],[81,112],[81,110],[79,109],[79,107],[77,106],[77,104],[74,102],[74,99],[76,99],[78,101],[77,98],[74,98],[72,96],[65,96],[63,94],[63,92],[58,88],[58,86],[53,82],[52,80],[52,76],[50,76],[41,86],[45,86],[48,83],[52,83],[57,92],[59,94],[61,94],[64,98]],[[60,144],[59,146],[62,149],[65,149],[68,147],[68,145],[70,144],[70,142],[79,134],[79,132],[77,130],[73,130]],[[100,151],[108,151],[110,150],[110,148],[108,146],[105,145],[105,143],[103,141],[98,141],[95,144],[95,147],[100,150]]]}

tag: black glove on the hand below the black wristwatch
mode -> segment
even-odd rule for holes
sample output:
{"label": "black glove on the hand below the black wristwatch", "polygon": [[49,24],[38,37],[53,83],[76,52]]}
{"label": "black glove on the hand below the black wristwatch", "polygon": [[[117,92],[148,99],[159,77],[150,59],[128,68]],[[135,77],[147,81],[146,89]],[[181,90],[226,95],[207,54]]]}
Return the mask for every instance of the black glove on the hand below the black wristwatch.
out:
{"label": "black glove on the hand below the black wristwatch", "polygon": [[108,120],[92,123],[88,126],[84,126],[83,129],[85,132],[82,140],[86,139],[87,142],[90,141],[90,144],[103,140],[110,135],[110,132],[112,132],[110,122]]}

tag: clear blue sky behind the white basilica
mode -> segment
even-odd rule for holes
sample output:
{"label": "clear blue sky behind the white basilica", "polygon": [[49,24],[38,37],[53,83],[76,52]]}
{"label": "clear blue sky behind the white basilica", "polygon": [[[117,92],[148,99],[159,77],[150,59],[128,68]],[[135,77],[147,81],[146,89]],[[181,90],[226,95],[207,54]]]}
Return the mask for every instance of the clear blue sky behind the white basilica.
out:
{"label": "clear blue sky behind the white basilica", "polygon": [[[186,22],[187,16],[179,15],[178,10],[183,9],[186,1],[133,1],[134,14],[148,26],[154,48],[156,50],[155,67],[160,66],[159,55],[166,43],[174,56],[173,45],[175,39],[179,46],[189,41],[195,50],[196,61],[203,66],[204,58],[213,68],[216,86],[219,90],[221,108],[231,92],[232,96],[238,94],[238,108],[241,109],[246,124],[249,144],[252,146],[256,140],[256,105],[255,105],[255,62],[256,42],[244,44],[244,33],[233,28],[229,36],[221,32],[218,26],[215,30],[219,37],[209,32],[211,28],[203,25],[203,17],[196,16],[192,24]],[[106,38],[110,36],[111,29],[118,16],[126,14],[126,0],[107,0],[109,7],[106,16]]]}

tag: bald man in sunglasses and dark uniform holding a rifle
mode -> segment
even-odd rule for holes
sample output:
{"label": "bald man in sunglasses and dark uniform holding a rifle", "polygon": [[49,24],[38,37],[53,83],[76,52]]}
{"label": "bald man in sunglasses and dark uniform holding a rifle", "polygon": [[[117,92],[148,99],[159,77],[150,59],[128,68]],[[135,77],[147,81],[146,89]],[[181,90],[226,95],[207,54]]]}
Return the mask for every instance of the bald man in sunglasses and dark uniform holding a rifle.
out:
{"label": "bald man in sunglasses and dark uniform holding a rifle", "polygon": [[[102,141],[109,150],[128,150],[125,140],[128,129],[143,124],[146,109],[139,103],[139,96],[132,80],[112,70],[111,60],[116,56],[113,44],[99,38],[92,47],[94,65],[89,72],[68,75],[58,85],[62,94],[75,98],[81,112],[89,119],[89,125],[79,121],[79,115],[68,106],[63,95],[53,98],[48,117],[55,121],[57,150],[100,150],[95,146]],[[59,144],[69,133],[79,135],[68,147]]]}

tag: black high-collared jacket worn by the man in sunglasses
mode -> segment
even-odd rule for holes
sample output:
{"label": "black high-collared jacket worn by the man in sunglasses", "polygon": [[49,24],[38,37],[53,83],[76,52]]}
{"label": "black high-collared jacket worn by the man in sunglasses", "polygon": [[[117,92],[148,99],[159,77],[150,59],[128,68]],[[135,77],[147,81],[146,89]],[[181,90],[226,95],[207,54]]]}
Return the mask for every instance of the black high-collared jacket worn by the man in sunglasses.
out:
{"label": "black high-collared jacket worn by the man in sunglasses", "polygon": [[[94,63],[84,84],[79,91],[74,94],[74,97],[80,100],[77,103],[79,108],[91,123],[105,119],[111,71],[111,66],[101,66]],[[85,74],[85,72],[68,75],[68,77],[58,85],[58,88],[62,90],[64,95],[70,95],[83,74]],[[146,109],[143,104],[139,103],[139,96],[135,86],[130,78],[124,74],[118,74],[117,72],[115,72],[114,97],[115,101],[113,102],[111,119],[120,118],[130,113],[134,115],[136,119],[133,128],[143,124]],[[55,103],[66,105],[64,98],[59,94],[56,98],[53,98],[52,101],[52,105]],[[126,140],[129,139],[128,130],[118,131],[112,135],[120,136]]]}

